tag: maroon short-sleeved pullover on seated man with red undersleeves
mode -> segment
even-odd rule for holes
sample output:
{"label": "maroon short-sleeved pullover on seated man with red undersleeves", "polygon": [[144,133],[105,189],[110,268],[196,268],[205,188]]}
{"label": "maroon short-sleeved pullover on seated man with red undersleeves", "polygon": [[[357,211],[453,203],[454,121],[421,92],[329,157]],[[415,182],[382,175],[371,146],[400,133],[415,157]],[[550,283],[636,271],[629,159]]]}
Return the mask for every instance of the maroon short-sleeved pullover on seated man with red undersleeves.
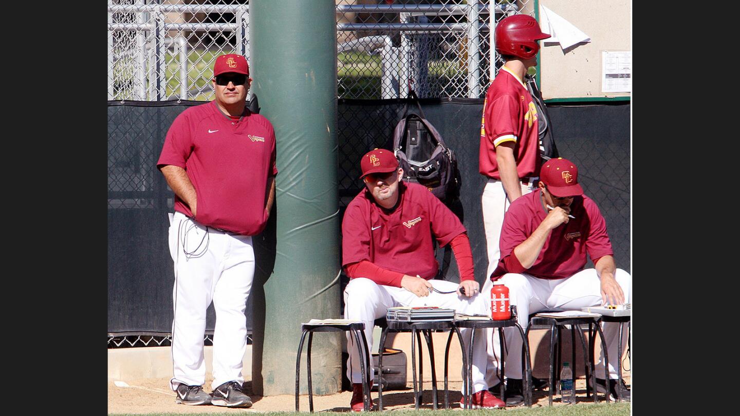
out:
{"label": "maroon short-sleeved pullover on seated man with red undersleeves", "polygon": [[347,206],[342,219],[342,266],[371,261],[384,269],[425,279],[437,275],[432,238],[445,246],[465,227],[420,184],[398,184],[400,201],[388,212],[367,189]]}

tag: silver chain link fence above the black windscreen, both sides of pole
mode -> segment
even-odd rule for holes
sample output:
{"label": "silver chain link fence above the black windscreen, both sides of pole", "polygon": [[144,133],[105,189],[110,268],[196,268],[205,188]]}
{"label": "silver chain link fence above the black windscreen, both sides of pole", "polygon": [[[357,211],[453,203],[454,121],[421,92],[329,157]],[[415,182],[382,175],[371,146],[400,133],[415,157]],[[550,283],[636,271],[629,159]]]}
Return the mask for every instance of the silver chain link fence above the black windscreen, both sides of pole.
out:
{"label": "silver chain link fence above the black windscreen, both sides of pole", "polygon": [[[338,97],[482,98],[490,28],[534,1],[336,0]],[[215,57],[249,60],[249,1],[108,0],[107,47],[109,100],[209,101]]]}

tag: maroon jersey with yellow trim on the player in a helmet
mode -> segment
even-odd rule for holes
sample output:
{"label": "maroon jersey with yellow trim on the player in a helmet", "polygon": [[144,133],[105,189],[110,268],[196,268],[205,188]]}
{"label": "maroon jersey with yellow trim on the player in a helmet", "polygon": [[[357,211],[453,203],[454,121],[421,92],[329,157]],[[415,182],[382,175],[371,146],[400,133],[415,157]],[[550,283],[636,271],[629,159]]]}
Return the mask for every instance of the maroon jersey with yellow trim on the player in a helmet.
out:
{"label": "maroon jersey with yellow trim on the player in a helmet", "polygon": [[519,178],[539,175],[537,108],[525,84],[502,67],[485,93],[480,124],[478,170],[481,175],[501,179],[496,147],[513,141]]}

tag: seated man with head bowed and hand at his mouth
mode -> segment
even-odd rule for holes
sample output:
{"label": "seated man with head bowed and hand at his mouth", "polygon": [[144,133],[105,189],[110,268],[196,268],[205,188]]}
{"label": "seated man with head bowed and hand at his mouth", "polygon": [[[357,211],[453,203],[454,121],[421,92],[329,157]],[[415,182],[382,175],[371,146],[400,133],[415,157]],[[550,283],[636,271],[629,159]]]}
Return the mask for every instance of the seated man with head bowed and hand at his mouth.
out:
{"label": "seated man with head bowed and hand at his mouth", "polygon": [[[537,189],[517,198],[506,212],[499,244],[501,259],[491,280],[500,279],[508,287],[524,329],[529,315],[542,310],[577,311],[632,302],[632,277],[616,268],[606,221],[596,203],[583,195],[578,168],[568,159],[543,162]],[[583,268],[587,253],[593,269]],[[508,328],[504,328],[504,335],[508,351],[506,397],[522,401],[522,340]],[[621,386],[616,385],[621,363],[619,323],[604,323],[604,337],[610,357],[610,391],[630,400],[624,380]],[[622,351],[627,339],[623,334]],[[599,375],[603,374],[604,352],[596,363],[596,389],[602,393],[606,380]]]}

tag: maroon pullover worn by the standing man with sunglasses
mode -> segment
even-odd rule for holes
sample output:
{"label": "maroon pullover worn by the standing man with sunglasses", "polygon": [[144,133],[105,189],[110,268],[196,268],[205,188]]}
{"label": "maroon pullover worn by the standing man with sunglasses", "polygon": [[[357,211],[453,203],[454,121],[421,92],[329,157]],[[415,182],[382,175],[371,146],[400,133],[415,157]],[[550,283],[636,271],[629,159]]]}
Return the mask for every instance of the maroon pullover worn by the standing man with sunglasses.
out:
{"label": "maroon pullover worn by the standing man with sunglasses", "polygon": [[[215,101],[175,118],[157,167],[186,170],[198,198],[199,223],[242,235],[260,233],[267,221],[267,178],[277,175],[275,130],[262,115],[232,121]],[[175,195],[175,211],[192,217]]]}

